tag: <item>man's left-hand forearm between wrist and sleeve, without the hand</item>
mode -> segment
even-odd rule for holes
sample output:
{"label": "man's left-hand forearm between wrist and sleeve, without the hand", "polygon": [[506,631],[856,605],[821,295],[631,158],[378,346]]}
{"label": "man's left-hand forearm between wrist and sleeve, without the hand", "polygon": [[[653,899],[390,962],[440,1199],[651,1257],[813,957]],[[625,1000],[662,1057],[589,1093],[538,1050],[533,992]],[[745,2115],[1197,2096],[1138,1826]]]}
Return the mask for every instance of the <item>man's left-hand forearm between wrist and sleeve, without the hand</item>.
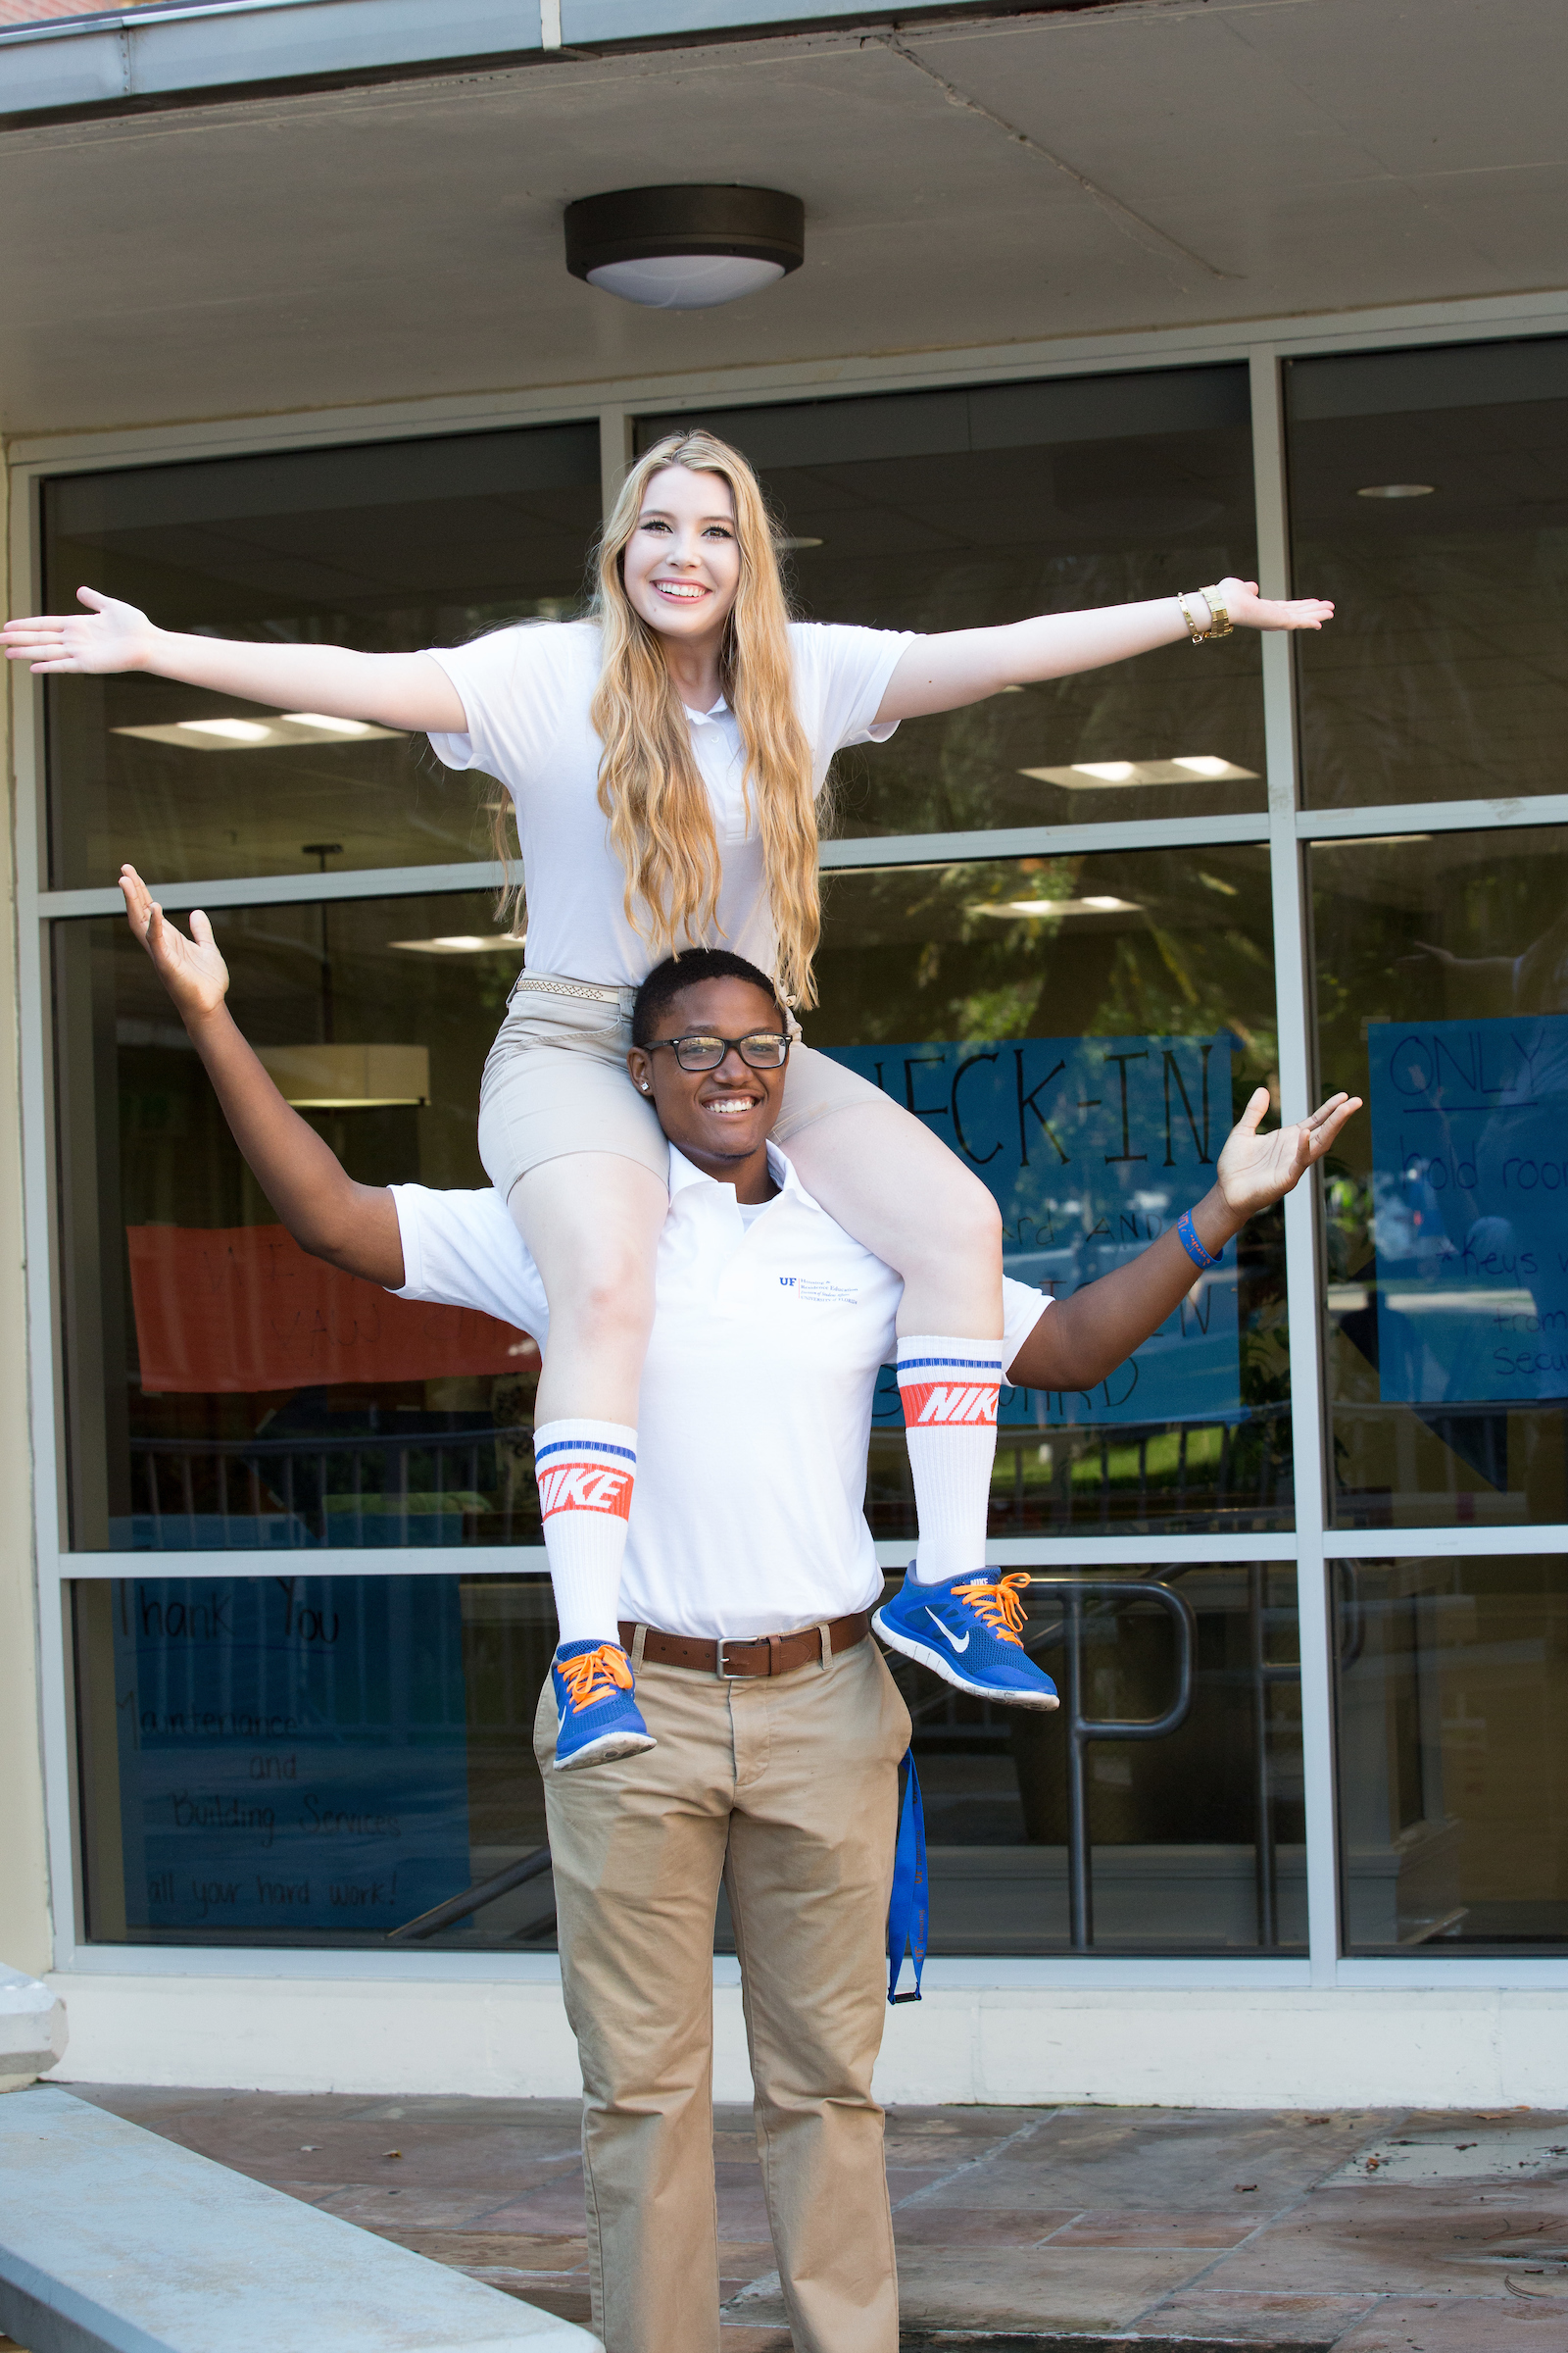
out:
{"label": "man's left-hand forearm between wrist and sleeve, without the hand", "polygon": [[301,1249],[350,1275],[402,1287],[397,1209],[383,1186],[362,1186],[284,1104],[226,1005],[188,1021],[235,1144]]}

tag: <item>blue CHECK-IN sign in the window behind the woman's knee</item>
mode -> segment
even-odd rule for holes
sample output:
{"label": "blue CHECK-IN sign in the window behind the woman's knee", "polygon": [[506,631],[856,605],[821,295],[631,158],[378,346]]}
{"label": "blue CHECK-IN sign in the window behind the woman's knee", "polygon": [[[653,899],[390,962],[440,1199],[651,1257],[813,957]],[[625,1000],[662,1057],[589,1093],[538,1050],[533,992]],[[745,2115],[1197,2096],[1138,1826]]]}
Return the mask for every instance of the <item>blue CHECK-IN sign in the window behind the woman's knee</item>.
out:
{"label": "blue CHECK-IN sign in the window behind the woman's knee", "polygon": [[[1065,1299],[1145,1249],[1213,1184],[1234,1040],[1023,1038],[835,1047],[952,1146],[1001,1209],[1009,1275]],[[1001,1391],[1001,1421],[1239,1421],[1237,1247],[1093,1393]],[[884,1372],[877,1419],[898,1419]]]}

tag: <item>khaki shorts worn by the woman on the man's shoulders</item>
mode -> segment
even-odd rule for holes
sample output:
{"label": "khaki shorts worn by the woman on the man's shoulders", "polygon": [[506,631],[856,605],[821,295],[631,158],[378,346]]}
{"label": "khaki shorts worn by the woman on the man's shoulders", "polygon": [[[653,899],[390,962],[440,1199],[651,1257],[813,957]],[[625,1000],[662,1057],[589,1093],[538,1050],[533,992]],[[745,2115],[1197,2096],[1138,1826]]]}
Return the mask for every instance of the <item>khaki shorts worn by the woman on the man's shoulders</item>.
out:
{"label": "khaki shorts worn by the woman on the man's shoulders", "polygon": [[[520,976],[480,1082],[480,1160],[503,1200],[567,1153],[618,1153],[668,1179],[670,1146],[625,1068],[635,995],[548,972]],[[788,1151],[802,1127],[882,1101],[870,1080],[797,1042],[773,1141]]]}

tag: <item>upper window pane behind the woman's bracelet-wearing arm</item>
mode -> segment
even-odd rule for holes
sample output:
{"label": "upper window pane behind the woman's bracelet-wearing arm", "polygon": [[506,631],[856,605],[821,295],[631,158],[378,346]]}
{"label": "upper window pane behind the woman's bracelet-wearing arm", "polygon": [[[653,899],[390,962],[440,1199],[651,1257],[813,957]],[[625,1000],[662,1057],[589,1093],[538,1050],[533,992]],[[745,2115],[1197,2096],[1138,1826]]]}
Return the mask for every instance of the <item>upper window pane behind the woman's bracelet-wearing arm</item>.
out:
{"label": "upper window pane behind the woman's bracelet-wearing arm", "polygon": [[[1258,567],[1244,367],[644,419],[743,449],[792,539],[799,609],[978,628]],[[1258,638],[910,720],[839,760],[839,831],[929,833],[1260,809]]]}

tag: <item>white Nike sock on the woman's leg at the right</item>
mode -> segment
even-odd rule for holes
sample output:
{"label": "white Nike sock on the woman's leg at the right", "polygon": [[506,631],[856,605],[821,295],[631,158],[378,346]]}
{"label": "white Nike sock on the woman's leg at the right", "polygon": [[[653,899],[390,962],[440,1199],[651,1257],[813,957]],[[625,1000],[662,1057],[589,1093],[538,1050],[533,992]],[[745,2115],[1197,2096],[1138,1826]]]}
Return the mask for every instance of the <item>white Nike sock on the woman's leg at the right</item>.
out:
{"label": "white Nike sock on the woman's leg at the right", "polygon": [[898,1334],[898,1395],[919,1513],[914,1577],[922,1586],[985,1565],[999,1388],[1001,1341]]}

